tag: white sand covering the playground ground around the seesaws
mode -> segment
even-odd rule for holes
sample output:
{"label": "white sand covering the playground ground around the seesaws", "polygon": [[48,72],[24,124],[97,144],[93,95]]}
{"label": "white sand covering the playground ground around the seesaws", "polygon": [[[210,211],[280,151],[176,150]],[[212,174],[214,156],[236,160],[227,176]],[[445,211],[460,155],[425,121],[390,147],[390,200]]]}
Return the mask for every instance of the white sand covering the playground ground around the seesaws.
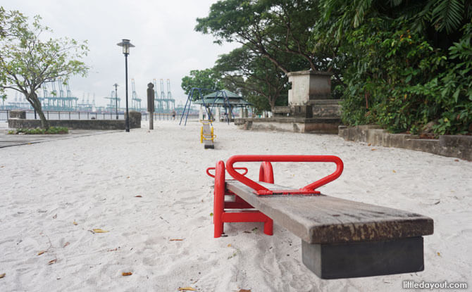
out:
{"label": "white sand covering the playground ground around the seesaws", "polygon": [[[223,123],[214,125],[216,148],[204,150],[199,125],[157,121],[151,132],[0,148],[0,291],[400,291],[404,280],[472,285],[472,163]],[[205,170],[235,154],[338,155],[344,172],[323,193],[433,218],[425,271],[321,280],[302,264],[299,238],[277,224],[273,236],[259,223],[225,224],[228,236],[213,239],[213,180]],[[249,175],[258,170],[250,164]],[[274,170],[276,184],[300,187],[333,172],[333,165],[278,163]],[[97,228],[109,232],[90,231]]]}

